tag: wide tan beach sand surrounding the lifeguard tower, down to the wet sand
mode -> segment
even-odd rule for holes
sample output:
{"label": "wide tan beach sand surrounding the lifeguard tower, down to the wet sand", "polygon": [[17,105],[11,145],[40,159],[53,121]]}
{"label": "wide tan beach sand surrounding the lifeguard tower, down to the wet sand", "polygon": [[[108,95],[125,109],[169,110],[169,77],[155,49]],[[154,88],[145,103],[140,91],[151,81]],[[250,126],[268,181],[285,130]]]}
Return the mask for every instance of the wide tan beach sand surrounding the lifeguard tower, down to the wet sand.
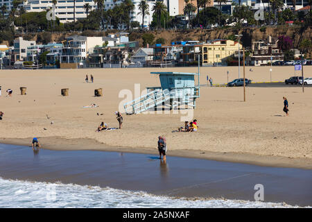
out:
{"label": "wide tan beach sand surrounding the lifeguard tower, down to the wet sand", "polygon": [[[270,81],[270,67],[251,68],[246,67],[246,78]],[[207,75],[214,83],[227,83],[227,70],[229,80],[238,78],[238,67],[201,67],[200,84],[207,83]],[[294,75],[293,67],[272,70],[272,81]],[[164,135],[168,155],[312,169],[312,87],[304,93],[301,87],[247,87],[243,102],[243,87],[205,86],[193,110],[197,133],[173,133],[184,126],[180,118],[186,115],[184,110],[123,114],[121,130],[96,133],[101,121],[118,127],[114,111],[123,103],[122,89],[130,90],[134,99],[139,96],[135,96],[135,83],[141,90],[160,86],[158,76],[150,71],[197,72],[197,67],[1,70],[0,110],[5,115],[0,121],[0,142],[25,145],[40,137],[44,148],[156,154],[157,136]],[[304,67],[306,77],[312,77],[311,71],[311,66]],[[86,74],[93,74],[94,83],[85,83]],[[27,87],[27,94],[21,96],[19,87]],[[94,97],[94,89],[100,87],[104,96]],[[6,97],[8,88],[13,89],[12,97]],[[69,88],[69,96],[60,95],[62,88]],[[288,99],[289,117],[282,111],[283,96]],[[83,108],[92,103],[99,107]]]}

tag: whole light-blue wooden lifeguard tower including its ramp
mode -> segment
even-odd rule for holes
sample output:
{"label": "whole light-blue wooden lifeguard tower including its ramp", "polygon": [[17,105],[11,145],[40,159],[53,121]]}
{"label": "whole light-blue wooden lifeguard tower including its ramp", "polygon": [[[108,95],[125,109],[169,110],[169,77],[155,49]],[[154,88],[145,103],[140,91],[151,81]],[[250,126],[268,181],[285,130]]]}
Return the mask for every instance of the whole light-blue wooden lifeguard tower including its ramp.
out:
{"label": "whole light-blue wooden lifeguard tower including its ramp", "polygon": [[[165,103],[170,109],[180,105],[196,108],[196,99],[200,97],[199,72],[151,72],[159,75],[161,87],[147,87],[147,94],[123,104],[126,114],[137,114],[157,105]],[[198,76],[198,85],[195,85],[195,76]]]}

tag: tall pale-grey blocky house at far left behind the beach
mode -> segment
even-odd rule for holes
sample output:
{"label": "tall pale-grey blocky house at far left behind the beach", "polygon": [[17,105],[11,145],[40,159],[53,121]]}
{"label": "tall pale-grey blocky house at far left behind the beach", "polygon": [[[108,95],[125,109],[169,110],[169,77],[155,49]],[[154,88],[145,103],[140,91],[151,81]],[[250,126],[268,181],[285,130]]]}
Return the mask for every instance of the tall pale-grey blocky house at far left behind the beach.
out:
{"label": "tall pale-grey blocky house at far left behind the beach", "polygon": [[17,37],[14,40],[14,51],[11,56],[11,62],[24,61],[27,58],[27,48],[35,46],[35,41],[23,40],[23,37]]}

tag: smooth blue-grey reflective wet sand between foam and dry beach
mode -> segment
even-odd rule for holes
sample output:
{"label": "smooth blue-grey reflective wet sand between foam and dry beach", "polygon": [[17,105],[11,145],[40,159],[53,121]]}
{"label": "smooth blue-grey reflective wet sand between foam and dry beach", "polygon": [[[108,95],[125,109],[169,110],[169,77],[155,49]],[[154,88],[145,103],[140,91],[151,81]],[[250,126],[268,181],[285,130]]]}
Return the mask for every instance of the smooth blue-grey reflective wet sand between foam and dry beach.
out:
{"label": "smooth blue-grey reflective wet sand between foam and dry beach", "polygon": [[177,197],[254,200],[312,205],[312,171],[194,158],[103,152],[52,151],[0,144],[0,176],[18,180],[94,185]]}

